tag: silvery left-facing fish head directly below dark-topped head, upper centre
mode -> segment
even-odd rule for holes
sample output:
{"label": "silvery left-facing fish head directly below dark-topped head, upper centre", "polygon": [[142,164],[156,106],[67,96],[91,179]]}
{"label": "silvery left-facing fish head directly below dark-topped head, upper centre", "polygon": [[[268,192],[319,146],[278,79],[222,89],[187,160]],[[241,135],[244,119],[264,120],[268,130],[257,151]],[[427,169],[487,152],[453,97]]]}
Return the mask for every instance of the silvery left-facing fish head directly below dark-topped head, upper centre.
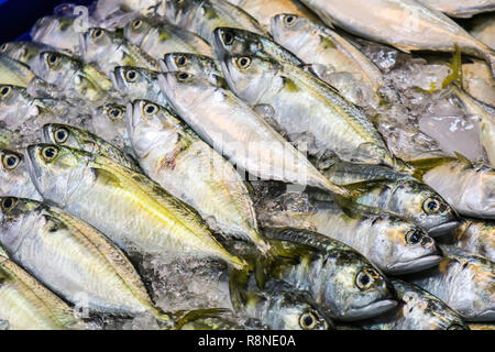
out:
{"label": "silvery left-facing fish head directly below dark-topped head, upper centre", "polygon": [[235,55],[222,62],[229,87],[249,103],[258,102],[271,90],[283,86],[279,65],[253,55]]}

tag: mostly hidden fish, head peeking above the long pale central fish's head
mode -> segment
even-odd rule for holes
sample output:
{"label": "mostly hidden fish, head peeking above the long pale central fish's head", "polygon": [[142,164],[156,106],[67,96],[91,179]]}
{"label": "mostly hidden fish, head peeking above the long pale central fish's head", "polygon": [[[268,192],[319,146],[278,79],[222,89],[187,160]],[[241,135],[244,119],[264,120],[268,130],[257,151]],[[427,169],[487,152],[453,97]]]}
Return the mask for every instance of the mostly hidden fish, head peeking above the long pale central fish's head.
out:
{"label": "mostly hidden fish, head peeking above the long pale central fish's head", "polygon": [[[212,85],[221,85],[223,79],[220,63],[209,56],[189,53],[169,53],[160,61],[163,72],[183,72],[208,80]],[[227,86],[227,84],[226,84]]]}

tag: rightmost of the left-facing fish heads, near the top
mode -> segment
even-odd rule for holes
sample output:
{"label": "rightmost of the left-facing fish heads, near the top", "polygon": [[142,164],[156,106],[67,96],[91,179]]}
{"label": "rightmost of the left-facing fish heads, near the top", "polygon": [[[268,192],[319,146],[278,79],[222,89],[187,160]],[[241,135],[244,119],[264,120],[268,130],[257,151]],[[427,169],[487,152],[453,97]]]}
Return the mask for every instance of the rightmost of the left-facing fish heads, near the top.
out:
{"label": "rightmost of the left-facing fish heads, near the top", "polygon": [[274,15],[271,19],[271,28],[273,38],[282,45],[287,42],[297,42],[300,35],[311,31],[307,19],[293,13]]}

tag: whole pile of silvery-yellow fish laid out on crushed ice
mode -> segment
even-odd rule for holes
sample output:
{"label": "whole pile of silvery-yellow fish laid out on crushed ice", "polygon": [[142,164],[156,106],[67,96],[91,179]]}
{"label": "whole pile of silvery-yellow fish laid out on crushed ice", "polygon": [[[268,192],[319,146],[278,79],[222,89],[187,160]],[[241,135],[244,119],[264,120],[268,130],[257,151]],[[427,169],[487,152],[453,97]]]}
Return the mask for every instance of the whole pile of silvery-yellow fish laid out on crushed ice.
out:
{"label": "whole pile of silvery-yellow fish laid out on crushed ice", "polygon": [[[487,85],[495,54],[441,13],[472,2],[99,0],[1,45],[0,327],[493,322],[495,109],[461,54]],[[369,41],[454,53],[420,94],[479,119],[477,154],[396,155]],[[205,261],[227,299],[164,308],[136,253]]]}

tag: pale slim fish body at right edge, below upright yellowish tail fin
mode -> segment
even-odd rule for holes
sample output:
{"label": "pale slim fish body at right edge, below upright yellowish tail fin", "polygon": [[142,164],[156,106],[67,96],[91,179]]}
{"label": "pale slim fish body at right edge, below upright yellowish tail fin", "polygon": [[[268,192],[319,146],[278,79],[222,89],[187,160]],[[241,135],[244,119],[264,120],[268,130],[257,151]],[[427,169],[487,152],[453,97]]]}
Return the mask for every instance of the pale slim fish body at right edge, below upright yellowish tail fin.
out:
{"label": "pale slim fish body at right edge, below upright yellowish tail fin", "polygon": [[480,120],[480,141],[491,165],[495,167],[495,108],[470,97],[458,86],[453,86],[452,90],[465,111]]}

